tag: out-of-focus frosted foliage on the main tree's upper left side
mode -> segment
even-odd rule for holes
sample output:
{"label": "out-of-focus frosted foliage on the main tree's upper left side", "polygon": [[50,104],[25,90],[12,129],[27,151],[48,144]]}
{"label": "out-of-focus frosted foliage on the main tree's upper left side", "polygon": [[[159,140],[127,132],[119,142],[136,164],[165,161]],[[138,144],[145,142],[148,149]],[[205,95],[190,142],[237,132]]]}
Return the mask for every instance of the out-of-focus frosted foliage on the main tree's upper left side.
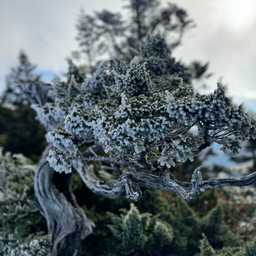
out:
{"label": "out-of-focus frosted foliage on the main tree's upper left side", "polygon": [[45,105],[32,104],[47,130],[64,129],[65,117],[73,107],[89,110],[99,100],[106,98],[107,89],[104,88],[114,83],[111,70],[114,68],[119,73],[125,70],[121,61],[111,58],[101,63],[92,77],[85,78],[71,60],[68,60],[68,65],[66,82],[60,81],[58,77],[52,80],[52,89],[48,91],[48,96],[53,102]]}

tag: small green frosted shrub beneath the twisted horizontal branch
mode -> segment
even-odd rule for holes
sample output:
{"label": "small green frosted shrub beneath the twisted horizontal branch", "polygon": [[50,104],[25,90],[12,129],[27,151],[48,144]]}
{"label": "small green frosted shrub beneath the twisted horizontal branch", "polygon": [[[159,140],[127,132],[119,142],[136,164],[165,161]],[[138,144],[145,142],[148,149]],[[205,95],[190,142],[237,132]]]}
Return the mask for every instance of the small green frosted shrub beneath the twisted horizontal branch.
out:
{"label": "small green frosted shrub beneath the twisted horizontal branch", "polygon": [[[170,244],[173,239],[172,226],[149,213],[139,213],[134,204],[120,217],[110,214],[113,225],[109,228],[125,250],[156,250]],[[149,253],[151,254],[151,253]]]}

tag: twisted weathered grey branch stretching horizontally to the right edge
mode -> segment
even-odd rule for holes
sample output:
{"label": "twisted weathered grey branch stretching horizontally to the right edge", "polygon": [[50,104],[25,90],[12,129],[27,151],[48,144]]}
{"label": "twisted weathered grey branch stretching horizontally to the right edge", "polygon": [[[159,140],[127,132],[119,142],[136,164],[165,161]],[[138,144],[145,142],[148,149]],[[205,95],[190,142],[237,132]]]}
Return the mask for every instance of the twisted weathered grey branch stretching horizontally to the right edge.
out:
{"label": "twisted weathered grey branch stretching horizontally to the right edge", "polygon": [[80,160],[73,160],[73,165],[89,189],[110,198],[124,196],[138,200],[141,195],[139,187],[142,186],[145,188],[174,191],[182,196],[184,200],[189,201],[196,194],[215,187],[246,186],[256,183],[256,172],[241,178],[218,178],[202,181],[200,172],[202,166],[199,166],[192,174],[191,183],[172,180],[168,172],[164,172],[163,177],[159,177],[145,172],[127,171],[120,175],[115,184],[110,184],[97,178],[86,163]]}

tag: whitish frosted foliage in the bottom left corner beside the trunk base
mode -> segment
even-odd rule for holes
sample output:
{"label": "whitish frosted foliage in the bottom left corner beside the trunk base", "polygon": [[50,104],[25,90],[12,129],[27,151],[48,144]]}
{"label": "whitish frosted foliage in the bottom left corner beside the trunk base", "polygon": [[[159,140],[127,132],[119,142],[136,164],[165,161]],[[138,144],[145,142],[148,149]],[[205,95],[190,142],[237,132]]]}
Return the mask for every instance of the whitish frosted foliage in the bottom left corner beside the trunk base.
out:
{"label": "whitish frosted foliage in the bottom left corner beside the trunk base", "polygon": [[17,240],[15,247],[7,244],[3,256],[49,256],[50,246],[50,235],[38,232]]}

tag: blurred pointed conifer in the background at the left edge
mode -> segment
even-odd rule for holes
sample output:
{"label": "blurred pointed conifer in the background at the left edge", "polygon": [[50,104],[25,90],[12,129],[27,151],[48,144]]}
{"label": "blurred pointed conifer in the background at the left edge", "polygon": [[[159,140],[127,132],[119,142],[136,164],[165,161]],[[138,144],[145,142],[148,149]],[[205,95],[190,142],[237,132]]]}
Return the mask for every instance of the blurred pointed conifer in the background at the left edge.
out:
{"label": "blurred pointed conifer in the background at the left edge", "polygon": [[46,146],[44,127],[35,120],[35,113],[20,85],[26,82],[39,82],[40,74],[35,74],[35,65],[20,51],[19,63],[12,67],[6,76],[6,89],[0,104],[0,146],[4,152],[22,152],[33,161]]}

